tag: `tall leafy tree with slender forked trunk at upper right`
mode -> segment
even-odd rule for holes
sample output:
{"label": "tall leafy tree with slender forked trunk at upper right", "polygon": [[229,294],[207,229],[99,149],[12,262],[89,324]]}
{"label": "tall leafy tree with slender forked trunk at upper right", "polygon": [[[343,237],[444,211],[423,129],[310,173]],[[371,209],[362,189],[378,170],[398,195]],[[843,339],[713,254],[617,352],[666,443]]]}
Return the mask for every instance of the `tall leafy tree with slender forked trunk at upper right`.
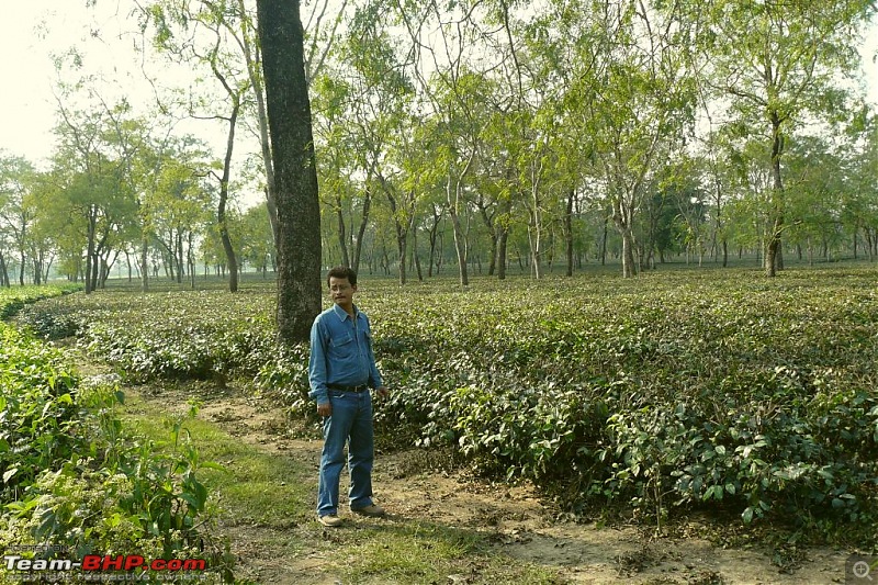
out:
{"label": "tall leafy tree with slender forked trunk at upper right", "polygon": [[856,38],[874,0],[691,0],[664,2],[702,23],[696,37],[710,59],[710,82],[731,101],[738,122],[769,145],[772,190],[765,272],[783,268],[787,202],[783,158],[787,138],[808,114],[843,105],[838,76],[856,71]]}

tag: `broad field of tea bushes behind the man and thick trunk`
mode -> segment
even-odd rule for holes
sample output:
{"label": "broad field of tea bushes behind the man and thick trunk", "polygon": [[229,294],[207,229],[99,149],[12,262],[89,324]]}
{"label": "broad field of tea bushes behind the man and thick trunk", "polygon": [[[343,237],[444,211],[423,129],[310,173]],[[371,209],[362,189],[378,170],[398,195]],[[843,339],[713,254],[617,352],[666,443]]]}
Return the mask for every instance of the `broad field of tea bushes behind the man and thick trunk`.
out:
{"label": "broad field of tea bushes behind the man and thick trunk", "polygon": [[[686,271],[361,283],[392,397],[385,446],[452,446],[586,510],[875,533],[878,274]],[[244,376],[313,419],[304,346],[274,344],[270,290],[77,295],[25,320],[126,375]],[[844,527],[844,528],[843,528]]]}

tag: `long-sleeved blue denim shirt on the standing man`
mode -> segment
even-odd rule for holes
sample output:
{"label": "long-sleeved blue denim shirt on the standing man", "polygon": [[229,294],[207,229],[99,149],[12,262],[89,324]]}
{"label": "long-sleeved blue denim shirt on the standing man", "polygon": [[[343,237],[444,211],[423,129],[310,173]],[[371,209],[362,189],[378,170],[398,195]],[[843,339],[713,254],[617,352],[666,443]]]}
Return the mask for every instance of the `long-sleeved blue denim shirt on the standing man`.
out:
{"label": "long-sleeved blue denim shirt on the standing man", "polygon": [[381,387],[381,374],[372,352],[372,330],[369,317],[353,307],[351,318],[334,304],[314,319],[311,326],[311,359],[308,360],[308,396],[317,404],[329,402],[327,384]]}

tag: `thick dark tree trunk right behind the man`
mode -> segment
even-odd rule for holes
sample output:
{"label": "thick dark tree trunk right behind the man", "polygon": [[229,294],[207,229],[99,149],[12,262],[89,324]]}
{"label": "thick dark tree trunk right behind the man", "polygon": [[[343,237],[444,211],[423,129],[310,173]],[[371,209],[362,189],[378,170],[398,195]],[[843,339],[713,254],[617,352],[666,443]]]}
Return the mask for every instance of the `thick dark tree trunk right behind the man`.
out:
{"label": "thick dark tree trunk right behind the man", "polygon": [[257,0],[278,200],[278,338],[307,341],[320,312],[320,206],[299,0]]}

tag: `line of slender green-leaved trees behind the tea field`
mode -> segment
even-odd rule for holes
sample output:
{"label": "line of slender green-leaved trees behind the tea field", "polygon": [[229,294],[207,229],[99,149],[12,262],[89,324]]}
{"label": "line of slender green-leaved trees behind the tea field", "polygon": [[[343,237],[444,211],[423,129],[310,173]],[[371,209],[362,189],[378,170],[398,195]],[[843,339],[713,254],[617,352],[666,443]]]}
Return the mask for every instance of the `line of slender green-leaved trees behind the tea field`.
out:
{"label": "line of slender green-leaved trees behind the tea field", "polygon": [[[608,261],[630,277],[747,256],[773,275],[790,256],[878,258],[878,117],[852,89],[869,1],[327,7],[303,19],[324,266],[465,284]],[[58,81],[50,168],[0,156],[3,284],[57,273],[91,291],[115,270],[234,290],[241,270],[277,269],[255,2],[135,15],[144,52],[188,64],[192,83],[143,113],[95,79]],[[175,132],[193,117],[225,143]],[[239,209],[254,192],[264,203]]]}

